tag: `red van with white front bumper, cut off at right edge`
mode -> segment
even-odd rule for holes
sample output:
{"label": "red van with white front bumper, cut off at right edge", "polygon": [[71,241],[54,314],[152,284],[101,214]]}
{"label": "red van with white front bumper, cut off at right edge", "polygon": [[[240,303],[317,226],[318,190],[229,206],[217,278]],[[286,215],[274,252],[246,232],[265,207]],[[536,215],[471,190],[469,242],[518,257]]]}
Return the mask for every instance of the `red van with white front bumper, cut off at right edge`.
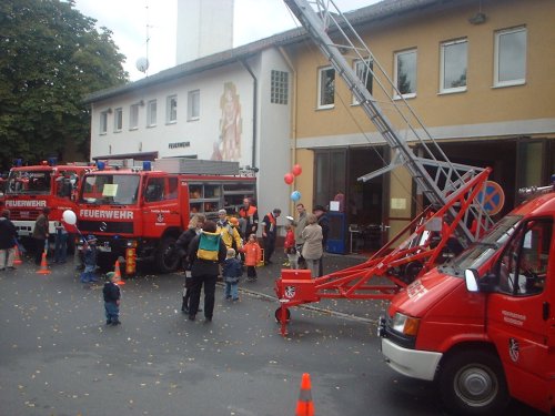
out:
{"label": "red van with white front bumper, cut off at right edge", "polygon": [[457,414],[498,414],[511,396],[555,409],[555,192],[541,191],[381,318],[386,363],[437,381]]}

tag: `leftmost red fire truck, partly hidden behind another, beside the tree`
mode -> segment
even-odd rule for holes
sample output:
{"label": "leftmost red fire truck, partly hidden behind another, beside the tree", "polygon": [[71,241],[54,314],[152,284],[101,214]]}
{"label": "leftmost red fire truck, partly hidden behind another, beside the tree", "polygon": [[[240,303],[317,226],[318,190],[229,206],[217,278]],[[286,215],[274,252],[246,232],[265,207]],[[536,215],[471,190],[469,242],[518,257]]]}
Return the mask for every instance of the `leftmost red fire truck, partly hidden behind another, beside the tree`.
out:
{"label": "leftmost red fire truck, partly hidden behind another, beside the tree", "polygon": [[54,224],[61,221],[63,211],[77,210],[78,187],[92,169],[84,163],[57,165],[54,160],[12,168],[4,185],[4,205],[19,236],[32,235],[34,221],[46,206],[51,209],[49,227],[54,235]]}

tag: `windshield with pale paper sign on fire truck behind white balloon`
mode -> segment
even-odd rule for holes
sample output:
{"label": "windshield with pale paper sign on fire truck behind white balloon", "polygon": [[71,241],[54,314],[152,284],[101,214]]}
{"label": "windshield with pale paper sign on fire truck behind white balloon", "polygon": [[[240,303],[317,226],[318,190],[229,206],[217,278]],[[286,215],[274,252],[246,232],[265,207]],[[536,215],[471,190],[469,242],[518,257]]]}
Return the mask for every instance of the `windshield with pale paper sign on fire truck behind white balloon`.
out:
{"label": "windshield with pale paper sign on fire truck behind white balloon", "polygon": [[138,174],[89,174],[79,202],[95,205],[132,205],[139,195]]}

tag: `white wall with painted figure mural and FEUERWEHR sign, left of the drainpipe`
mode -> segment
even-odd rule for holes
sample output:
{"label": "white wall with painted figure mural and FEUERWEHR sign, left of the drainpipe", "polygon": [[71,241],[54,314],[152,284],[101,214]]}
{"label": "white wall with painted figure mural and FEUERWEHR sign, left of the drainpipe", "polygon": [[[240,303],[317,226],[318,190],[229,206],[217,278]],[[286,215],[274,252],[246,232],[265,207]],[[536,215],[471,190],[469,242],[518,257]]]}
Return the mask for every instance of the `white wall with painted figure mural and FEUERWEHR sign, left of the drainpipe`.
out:
{"label": "white wall with painted figure mural and FEUERWEHR sign, left of the drainpipe", "polygon": [[[223,69],[204,71],[202,75],[183,78],[159,84],[157,89],[145,89],[133,94],[118,97],[95,103],[91,125],[91,158],[108,154],[158,151],[160,158],[196,156],[212,159],[214,145],[219,145],[222,135],[222,106],[224,84],[231,82],[236,88],[241,106],[241,154],[233,160],[240,165],[250,165],[252,160],[252,108],[253,93],[251,77],[240,64]],[[188,121],[188,94],[192,90],[200,91],[200,118]],[[178,121],[167,123],[167,98],[178,97]],[[147,126],[147,103],[155,99],[158,102],[158,121],[152,128]],[[129,129],[130,106],[139,101],[139,128]],[[108,116],[108,132],[99,134],[100,112],[107,108],[123,108],[123,129],[113,131],[114,112]],[[190,142],[189,148],[171,149],[171,143]]]}

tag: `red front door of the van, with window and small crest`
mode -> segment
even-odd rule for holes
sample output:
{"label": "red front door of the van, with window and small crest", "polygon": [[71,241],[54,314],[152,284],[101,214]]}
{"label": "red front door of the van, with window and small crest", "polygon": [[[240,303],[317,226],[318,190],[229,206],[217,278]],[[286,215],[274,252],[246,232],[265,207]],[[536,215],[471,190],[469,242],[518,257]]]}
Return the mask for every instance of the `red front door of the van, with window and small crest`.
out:
{"label": "red front door of the van, with window and small crest", "polygon": [[511,395],[544,412],[551,410],[555,369],[553,248],[553,220],[525,221],[495,265],[498,290],[486,306]]}

